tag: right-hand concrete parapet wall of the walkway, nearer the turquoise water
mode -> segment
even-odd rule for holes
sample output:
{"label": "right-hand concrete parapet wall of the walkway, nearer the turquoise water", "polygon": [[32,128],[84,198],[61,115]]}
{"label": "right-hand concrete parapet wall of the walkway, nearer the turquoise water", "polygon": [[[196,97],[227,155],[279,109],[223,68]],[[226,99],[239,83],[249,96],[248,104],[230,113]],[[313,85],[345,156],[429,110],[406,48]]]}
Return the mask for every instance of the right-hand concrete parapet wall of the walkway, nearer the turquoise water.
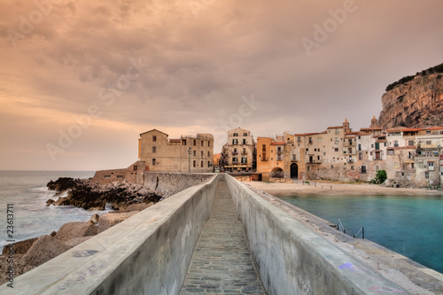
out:
{"label": "right-hand concrete parapet wall of the walkway, nearer the turquoise water", "polygon": [[225,180],[269,295],[408,294],[245,184],[229,175]]}

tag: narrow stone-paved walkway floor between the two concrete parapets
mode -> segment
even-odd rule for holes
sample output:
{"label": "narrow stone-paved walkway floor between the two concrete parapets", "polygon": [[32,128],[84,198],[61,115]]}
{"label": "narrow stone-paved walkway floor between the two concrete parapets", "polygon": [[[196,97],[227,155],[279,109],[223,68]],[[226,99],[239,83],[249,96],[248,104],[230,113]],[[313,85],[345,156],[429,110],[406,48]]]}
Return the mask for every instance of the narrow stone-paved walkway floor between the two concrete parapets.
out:
{"label": "narrow stone-paved walkway floor between the two concrete parapets", "polygon": [[198,239],[181,294],[266,294],[223,181],[219,182],[211,219]]}

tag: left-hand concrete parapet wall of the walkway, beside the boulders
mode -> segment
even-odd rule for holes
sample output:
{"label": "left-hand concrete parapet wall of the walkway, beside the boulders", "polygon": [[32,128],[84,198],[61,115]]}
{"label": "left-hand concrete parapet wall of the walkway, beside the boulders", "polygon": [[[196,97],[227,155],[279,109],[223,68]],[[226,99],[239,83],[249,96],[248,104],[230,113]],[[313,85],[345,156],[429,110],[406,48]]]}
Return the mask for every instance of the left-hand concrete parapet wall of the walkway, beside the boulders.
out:
{"label": "left-hand concrete parapet wall of the walkway, beside the boulders", "polygon": [[179,294],[220,176],[16,277],[2,294]]}

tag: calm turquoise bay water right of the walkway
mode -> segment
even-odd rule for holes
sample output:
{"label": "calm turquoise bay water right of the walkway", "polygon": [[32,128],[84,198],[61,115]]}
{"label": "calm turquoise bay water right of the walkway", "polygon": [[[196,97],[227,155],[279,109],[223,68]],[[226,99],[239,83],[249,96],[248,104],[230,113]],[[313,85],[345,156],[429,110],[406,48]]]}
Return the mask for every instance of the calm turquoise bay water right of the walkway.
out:
{"label": "calm turquoise bay water right of the walkway", "polygon": [[282,200],[443,273],[443,197],[286,196]]}

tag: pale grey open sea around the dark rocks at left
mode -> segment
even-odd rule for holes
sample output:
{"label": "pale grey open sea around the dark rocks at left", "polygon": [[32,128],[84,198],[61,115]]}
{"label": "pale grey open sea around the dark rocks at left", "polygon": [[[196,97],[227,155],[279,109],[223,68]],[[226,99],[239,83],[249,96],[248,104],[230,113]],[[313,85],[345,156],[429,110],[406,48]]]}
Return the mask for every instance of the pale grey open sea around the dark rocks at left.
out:
{"label": "pale grey open sea around the dark rocks at left", "polygon": [[[49,198],[57,200],[60,197],[54,196],[55,191],[48,190],[46,183],[56,181],[58,177],[92,176],[93,171],[0,171],[0,250],[10,244],[7,241],[19,242],[50,235],[66,222],[87,221],[94,213],[109,212],[110,206],[105,211],[87,211],[74,206],[46,206]],[[8,229],[12,231],[8,232]]]}

